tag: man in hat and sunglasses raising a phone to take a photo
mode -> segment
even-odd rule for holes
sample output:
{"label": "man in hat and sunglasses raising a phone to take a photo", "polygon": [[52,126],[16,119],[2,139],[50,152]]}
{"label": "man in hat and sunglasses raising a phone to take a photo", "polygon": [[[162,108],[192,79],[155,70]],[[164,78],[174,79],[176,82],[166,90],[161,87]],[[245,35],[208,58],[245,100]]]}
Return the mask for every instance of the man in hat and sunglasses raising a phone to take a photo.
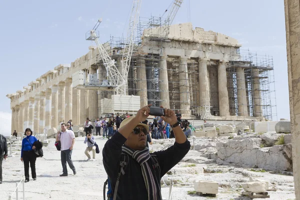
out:
{"label": "man in hat and sunglasses raising a phone to take a photo", "polygon": [[146,147],[149,126],[141,123],[149,116],[149,106],[151,104],[140,108],[135,116],[124,119],[103,147],[103,165],[110,191],[108,199],[162,200],[161,177],[190,149],[174,111],[164,108],[165,116],[161,117],[172,127],[175,142],[166,150],[149,153]]}

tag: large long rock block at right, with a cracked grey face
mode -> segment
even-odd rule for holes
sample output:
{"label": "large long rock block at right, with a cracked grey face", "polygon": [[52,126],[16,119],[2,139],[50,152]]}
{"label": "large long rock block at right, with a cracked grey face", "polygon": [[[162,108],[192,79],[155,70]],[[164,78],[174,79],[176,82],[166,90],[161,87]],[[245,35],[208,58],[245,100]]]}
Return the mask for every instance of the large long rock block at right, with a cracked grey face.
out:
{"label": "large long rock block at right, with a cracked grey face", "polygon": [[216,162],[265,170],[292,170],[291,144],[260,148],[260,142],[260,138],[218,142]]}

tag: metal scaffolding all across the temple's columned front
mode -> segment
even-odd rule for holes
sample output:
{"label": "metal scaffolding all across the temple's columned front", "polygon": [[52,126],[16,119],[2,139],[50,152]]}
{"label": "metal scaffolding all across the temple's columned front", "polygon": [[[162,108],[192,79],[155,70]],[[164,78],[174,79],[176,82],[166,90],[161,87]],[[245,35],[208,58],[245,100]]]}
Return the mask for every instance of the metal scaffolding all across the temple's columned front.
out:
{"label": "metal scaffolding all across the temple's columned front", "polygon": [[[168,55],[163,56],[164,47],[169,45],[171,40],[166,38],[165,28],[161,27],[164,19],[161,17],[151,16],[150,18],[139,17],[136,36],[134,38],[134,48],[130,61],[127,91],[128,95],[139,95],[141,101],[151,103],[153,106],[161,105],[161,63],[166,63],[168,77],[168,92],[170,108],[180,110],[181,113],[186,112],[182,108],[186,99],[189,99],[190,114],[196,115],[198,110],[210,111],[211,115],[219,115],[218,101],[218,81],[217,70],[218,62],[210,60],[207,63],[209,75],[209,95],[210,107],[200,107],[199,99],[199,73],[198,61],[196,57],[187,59],[186,68],[181,66],[180,57]],[[120,68],[120,59],[123,54],[125,38],[110,36],[110,39],[103,44],[108,54],[115,60],[117,68]],[[194,47],[193,47],[194,48]],[[213,50],[214,48],[212,48]],[[215,50],[215,49],[214,49]],[[256,53],[251,53],[249,50],[240,50],[239,48],[230,49],[230,60],[227,63],[227,89],[229,97],[229,112],[233,116],[245,115],[253,116],[261,120],[272,120],[277,117],[275,89],[274,89],[274,74],[273,60],[271,56],[261,56]],[[144,64],[141,60],[143,60]],[[100,60],[99,60],[100,63]],[[101,64],[100,64],[101,65]],[[103,66],[101,70],[105,70]],[[244,77],[239,77],[237,74],[238,68],[243,69]],[[138,70],[145,70],[145,76],[140,77]],[[99,73],[99,72],[98,72]],[[144,73],[144,72],[143,72]],[[180,74],[180,75],[179,75]],[[185,74],[185,75],[182,75]],[[100,81],[105,79],[105,73],[99,73]],[[182,77],[184,76],[184,77]],[[244,88],[240,92],[238,82],[244,79]],[[141,87],[140,82],[145,81]],[[146,95],[144,91],[146,90]],[[241,95],[244,96],[239,96]],[[100,99],[110,98],[113,92],[98,91]],[[186,98],[188,96],[188,98]],[[240,97],[243,97],[241,101]],[[143,99],[146,98],[146,99]],[[241,106],[244,111],[241,111]],[[185,108],[186,109],[186,108]],[[207,113],[209,113],[209,111]],[[204,113],[203,112],[203,113]],[[243,115],[244,116],[244,115]]]}

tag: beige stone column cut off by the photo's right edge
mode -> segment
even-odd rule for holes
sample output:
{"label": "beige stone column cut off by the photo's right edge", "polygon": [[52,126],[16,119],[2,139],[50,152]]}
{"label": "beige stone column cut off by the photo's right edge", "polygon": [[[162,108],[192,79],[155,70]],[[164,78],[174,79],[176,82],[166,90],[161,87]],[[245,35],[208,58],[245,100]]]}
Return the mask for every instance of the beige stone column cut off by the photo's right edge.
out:
{"label": "beige stone column cut off by the photo's right edge", "polygon": [[292,168],[296,200],[300,199],[300,2],[284,0]]}

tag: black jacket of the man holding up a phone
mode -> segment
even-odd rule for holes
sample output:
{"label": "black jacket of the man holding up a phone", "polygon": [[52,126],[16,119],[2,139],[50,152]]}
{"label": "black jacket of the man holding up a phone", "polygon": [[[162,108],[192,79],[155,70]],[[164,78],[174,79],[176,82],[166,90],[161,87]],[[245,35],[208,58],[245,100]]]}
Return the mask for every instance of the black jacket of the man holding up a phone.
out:
{"label": "black jacket of the man holding up a phone", "polygon": [[[111,182],[112,189],[114,189],[117,173],[119,172],[122,145],[125,141],[126,138],[116,131],[112,137],[106,141],[102,151],[103,165]],[[186,140],[181,144],[175,142],[174,145],[170,146],[166,150],[150,153],[151,155],[156,156],[159,163],[160,170],[157,170],[155,167],[151,167],[151,172],[153,173],[156,181],[158,181],[159,186],[161,177],[184,157],[189,148],[189,141]],[[148,159],[147,162],[150,166],[153,165],[153,163],[151,163],[151,159]],[[116,199],[148,199],[141,167],[137,161],[130,156],[125,168],[125,174],[121,175],[119,179]]]}

